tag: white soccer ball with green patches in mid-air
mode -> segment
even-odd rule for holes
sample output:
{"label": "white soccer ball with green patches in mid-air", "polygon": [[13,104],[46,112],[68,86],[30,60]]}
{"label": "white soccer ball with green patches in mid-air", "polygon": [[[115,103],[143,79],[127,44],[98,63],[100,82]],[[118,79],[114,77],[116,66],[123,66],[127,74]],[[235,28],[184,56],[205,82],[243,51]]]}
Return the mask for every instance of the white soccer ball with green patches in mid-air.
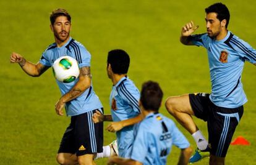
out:
{"label": "white soccer ball with green patches in mid-air", "polygon": [[59,57],[53,63],[53,75],[58,81],[69,83],[79,77],[79,65],[70,56]]}

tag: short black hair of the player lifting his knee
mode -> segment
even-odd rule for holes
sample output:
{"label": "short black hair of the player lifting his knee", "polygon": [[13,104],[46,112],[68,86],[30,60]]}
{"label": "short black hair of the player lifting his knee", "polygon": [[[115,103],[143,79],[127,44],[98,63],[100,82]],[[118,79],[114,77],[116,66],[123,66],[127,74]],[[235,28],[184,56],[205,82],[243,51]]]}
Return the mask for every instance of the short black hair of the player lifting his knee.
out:
{"label": "short black hair of the player lifting his knee", "polygon": [[220,21],[222,21],[224,19],[227,20],[226,28],[228,28],[230,14],[229,14],[228,7],[226,7],[226,5],[224,5],[222,3],[216,3],[216,4],[213,4],[209,7],[207,7],[205,9],[205,12],[207,14],[210,13],[210,12],[215,12],[217,14],[218,20],[220,20]]}

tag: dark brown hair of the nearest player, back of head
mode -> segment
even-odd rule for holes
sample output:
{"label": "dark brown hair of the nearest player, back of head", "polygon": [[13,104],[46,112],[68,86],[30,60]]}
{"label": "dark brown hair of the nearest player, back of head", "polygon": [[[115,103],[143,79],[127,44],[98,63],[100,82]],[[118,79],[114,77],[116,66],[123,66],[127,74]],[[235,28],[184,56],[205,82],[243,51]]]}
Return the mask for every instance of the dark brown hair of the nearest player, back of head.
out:
{"label": "dark brown hair of the nearest player, back of head", "polygon": [[147,81],[142,84],[140,102],[145,110],[158,111],[163,99],[163,91],[159,84],[154,81]]}

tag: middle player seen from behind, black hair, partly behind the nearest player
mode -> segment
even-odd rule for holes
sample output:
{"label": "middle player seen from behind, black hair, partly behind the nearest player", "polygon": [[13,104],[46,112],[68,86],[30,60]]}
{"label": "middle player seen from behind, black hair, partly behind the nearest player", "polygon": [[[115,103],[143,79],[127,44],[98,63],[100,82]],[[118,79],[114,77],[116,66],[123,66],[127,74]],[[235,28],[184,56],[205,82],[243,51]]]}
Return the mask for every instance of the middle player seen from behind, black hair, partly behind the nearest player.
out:
{"label": "middle player seen from behind, black hair, partly behind the nearest player", "polygon": [[118,155],[129,158],[134,142],[133,127],[141,121],[139,108],[140,92],[127,77],[130,57],[124,50],[115,49],[108,52],[107,73],[113,82],[109,97],[111,115],[100,111],[93,114],[93,122],[114,121],[107,130],[116,132]]}

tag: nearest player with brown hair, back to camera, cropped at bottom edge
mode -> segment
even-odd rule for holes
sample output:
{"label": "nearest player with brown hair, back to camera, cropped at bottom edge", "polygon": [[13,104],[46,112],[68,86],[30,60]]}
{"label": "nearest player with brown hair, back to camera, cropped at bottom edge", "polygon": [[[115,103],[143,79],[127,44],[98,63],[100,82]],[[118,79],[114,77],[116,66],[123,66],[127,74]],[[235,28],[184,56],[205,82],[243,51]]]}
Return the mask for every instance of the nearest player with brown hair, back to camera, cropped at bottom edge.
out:
{"label": "nearest player with brown hair, back to camera, cropped at bottom edge", "polygon": [[178,164],[187,164],[192,153],[186,137],[174,122],[158,112],[163,91],[157,82],[142,85],[139,106],[143,120],[134,126],[134,143],[129,159],[113,156],[108,164],[166,164],[172,145],[181,149]]}

